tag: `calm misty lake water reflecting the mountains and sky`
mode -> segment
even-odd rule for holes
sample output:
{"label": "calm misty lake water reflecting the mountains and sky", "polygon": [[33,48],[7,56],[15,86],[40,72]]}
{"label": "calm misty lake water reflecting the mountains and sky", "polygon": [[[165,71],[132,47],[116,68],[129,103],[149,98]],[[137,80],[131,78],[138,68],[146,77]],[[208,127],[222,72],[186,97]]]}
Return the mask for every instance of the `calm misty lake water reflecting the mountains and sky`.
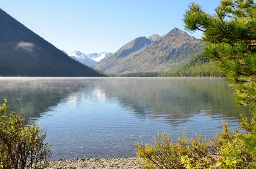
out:
{"label": "calm misty lake water reflecting the mountains and sky", "polygon": [[[0,103],[47,126],[53,159],[135,157],[135,141],[166,130],[212,137],[221,121],[237,128],[240,113],[220,78],[0,78]],[[19,99],[19,100],[18,100]]]}

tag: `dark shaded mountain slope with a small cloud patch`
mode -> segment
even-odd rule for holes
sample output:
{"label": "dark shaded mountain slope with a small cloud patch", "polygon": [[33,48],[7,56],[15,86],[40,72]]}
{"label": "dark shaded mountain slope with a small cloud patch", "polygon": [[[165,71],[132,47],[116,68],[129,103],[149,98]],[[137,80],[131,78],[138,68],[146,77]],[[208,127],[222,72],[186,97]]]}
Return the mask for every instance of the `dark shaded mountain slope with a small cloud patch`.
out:
{"label": "dark shaded mountain slope with a small cloud patch", "polygon": [[73,60],[0,9],[0,76],[105,76]]}

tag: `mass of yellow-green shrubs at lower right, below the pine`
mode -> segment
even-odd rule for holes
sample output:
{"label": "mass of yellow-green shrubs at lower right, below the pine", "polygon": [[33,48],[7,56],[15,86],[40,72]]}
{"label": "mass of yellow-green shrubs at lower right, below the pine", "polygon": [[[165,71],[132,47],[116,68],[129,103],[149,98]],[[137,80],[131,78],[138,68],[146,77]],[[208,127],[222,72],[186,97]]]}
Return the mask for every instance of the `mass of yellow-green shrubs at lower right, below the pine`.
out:
{"label": "mass of yellow-green shrubs at lower right, below the pine", "polygon": [[[253,119],[242,117],[243,132],[250,132]],[[222,123],[223,130],[213,139],[196,135],[196,139],[186,136],[174,143],[165,133],[158,134],[155,145],[135,143],[137,155],[143,159],[145,168],[160,169],[247,169],[254,161],[241,140],[243,132],[230,132],[227,122]],[[247,130],[249,129],[249,130]]]}

